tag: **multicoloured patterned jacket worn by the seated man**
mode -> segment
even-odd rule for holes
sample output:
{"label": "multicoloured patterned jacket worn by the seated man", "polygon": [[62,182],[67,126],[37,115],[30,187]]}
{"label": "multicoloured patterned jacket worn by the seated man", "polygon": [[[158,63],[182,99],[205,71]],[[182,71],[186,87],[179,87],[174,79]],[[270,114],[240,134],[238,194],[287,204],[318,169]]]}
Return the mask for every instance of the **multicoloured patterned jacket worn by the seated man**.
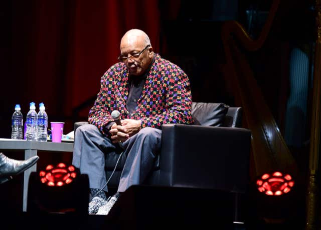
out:
{"label": "multicoloured patterned jacket worn by the seated man", "polygon": [[190,82],[186,73],[176,64],[156,54],[147,74],[137,107],[132,114],[126,108],[129,93],[128,71],[118,62],[101,77],[100,91],[89,111],[88,121],[102,133],[113,121],[111,112],[118,110],[121,119],[141,120],[142,127],[162,128],[166,123],[193,123]]}

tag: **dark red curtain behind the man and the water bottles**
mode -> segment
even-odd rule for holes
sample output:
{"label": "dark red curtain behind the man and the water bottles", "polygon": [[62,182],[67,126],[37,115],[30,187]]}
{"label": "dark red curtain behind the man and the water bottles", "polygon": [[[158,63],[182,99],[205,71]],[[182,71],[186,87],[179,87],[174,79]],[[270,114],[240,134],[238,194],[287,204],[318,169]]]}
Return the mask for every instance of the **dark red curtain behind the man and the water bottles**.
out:
{"label": "dark red curtain behind the man and the water bottles", "polygon": [[31,101],[44,102],[49,121],[65,121],[64,133],[71,131],[73,109],[98,93],[128,29],[144,30],[159,52],[158,0],[13,0],[6,7],[12,65],[1,96],[14,84],[18,93],[3,104],[12,108],[1,122],[4,137],[14,105],[20,103],[25,116]]}

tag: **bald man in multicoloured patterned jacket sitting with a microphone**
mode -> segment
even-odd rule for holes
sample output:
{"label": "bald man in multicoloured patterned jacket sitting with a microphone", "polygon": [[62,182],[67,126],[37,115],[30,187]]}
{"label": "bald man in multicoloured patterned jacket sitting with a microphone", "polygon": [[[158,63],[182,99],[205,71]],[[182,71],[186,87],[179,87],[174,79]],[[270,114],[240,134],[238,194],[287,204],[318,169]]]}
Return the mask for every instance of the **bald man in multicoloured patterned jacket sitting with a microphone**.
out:
{"label": "bald man in multicoloured patterned jacket sitting with a microphone", "polygon": [[[89,214],[108,214],[121,192],[144,181],[161,147],[162,124],[193,122],[188,76],[153,52],[145,32],[128,30],[118,59],[101,77],[89,124],[75,132],[72,163],[89,176]],[[120,112],[118,125],[114,110]],[[105,154],[121,151],[126,161],[117,192],[107,201]]]}

